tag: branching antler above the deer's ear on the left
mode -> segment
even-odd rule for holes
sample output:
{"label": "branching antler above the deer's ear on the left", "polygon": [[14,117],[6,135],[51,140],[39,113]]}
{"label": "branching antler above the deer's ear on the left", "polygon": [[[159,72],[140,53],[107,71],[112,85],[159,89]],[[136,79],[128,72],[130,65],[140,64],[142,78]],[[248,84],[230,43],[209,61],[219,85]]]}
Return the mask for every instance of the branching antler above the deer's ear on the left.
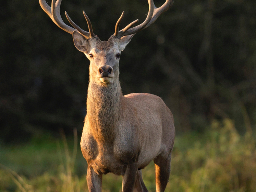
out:
{"label": "branching antler above the deer's ear on the left", "polygon": [[84,31],[83,29],[81,29],[80,27],[78,27],[69,17],[68,13],[65,12],[67,19],[69,20],[70,24],[74,27],[70,27],[68,25],[66,25],[60,15],[60,4],[61,4],[62,0],[57,0],[57,2],[55,0],[52,0],[51,2],[51,7],[46,3],[45,0],[39,0],[39,3],[41,5],[41,8],[47,13],[47,15],[49,15],[49,17],[51,18],[51,20],[61,29],[63,29],[64,31],[73,34],[74,31],[80,32],[83,36],[85,36],[87,39],[95,37],[94,33],[93,33],[93,28],[92,28],[92,24],[90,22],[90,19],[88,18],[88,16],[84,13],[85,19],[87,21],[88,27],[89,27],[89,32]]}

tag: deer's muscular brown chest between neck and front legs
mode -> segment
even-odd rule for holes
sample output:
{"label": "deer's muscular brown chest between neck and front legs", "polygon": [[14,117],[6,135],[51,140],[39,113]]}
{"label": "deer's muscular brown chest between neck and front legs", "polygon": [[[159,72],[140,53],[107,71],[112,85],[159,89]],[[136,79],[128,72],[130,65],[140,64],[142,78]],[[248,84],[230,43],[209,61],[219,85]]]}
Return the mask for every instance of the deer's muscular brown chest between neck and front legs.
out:
{"label": "deer's muscular brown chest between neck and front legs", "polygon": [[109,172],[123,175],[128,162],[135,156],[132,138],[119,136],[112,142],[99,142],[93,135],[82,135],[81,150],[87,163],[98,174]]}

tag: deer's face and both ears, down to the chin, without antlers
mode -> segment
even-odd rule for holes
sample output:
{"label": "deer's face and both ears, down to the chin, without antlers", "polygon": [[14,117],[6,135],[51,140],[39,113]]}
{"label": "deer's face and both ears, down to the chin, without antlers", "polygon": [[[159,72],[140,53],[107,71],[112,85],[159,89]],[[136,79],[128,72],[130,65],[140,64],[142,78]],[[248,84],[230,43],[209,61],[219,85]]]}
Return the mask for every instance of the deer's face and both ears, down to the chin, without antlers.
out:
{"label": "deer's face and both ears, down to the chin, without antlers", "polygon": [[73,32],[75,47],[90,60],[91,82],[107,85],[118,81],[121,51],[124,50],[132,36],[122,38],[111,36],[108,41],[100,41],[97,36],[86,39],[80,33]]}

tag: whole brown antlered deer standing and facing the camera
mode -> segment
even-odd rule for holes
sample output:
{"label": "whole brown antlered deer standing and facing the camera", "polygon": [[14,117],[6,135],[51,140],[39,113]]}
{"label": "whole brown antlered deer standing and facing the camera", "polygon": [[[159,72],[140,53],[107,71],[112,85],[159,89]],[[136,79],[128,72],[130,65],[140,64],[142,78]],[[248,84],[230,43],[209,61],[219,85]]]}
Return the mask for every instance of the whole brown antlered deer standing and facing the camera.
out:
{"label": "whole brown antlered deer standing and facing the camera", "polygon": [[119,30],[124,16],[122,12],[108,41],[101,41],[94,34],[84,11],[89,31],[77,26],[66,12],[72,27],[63,22],[61,0],[52,0],[51,7],[45,0],[39,0],[39,3],[59,28],[73,36],[76,49],[90,61],[87,114],[80,143],[87,161],[89,192],[101,192],[102,175],[107,173],[122,176],[122,192],[147,192],[142,169],[152,160],[155,164],[156,191],[164,192],[170,176],[175,137],[172,112],[156,95],[123,95],[119,82],[119,60],[135,33],[153,24],[172,6],[173,0],[166,0],[159,8],[153,0],[148,0],[149,11],[144,22],[134,26],[137,19]]}

